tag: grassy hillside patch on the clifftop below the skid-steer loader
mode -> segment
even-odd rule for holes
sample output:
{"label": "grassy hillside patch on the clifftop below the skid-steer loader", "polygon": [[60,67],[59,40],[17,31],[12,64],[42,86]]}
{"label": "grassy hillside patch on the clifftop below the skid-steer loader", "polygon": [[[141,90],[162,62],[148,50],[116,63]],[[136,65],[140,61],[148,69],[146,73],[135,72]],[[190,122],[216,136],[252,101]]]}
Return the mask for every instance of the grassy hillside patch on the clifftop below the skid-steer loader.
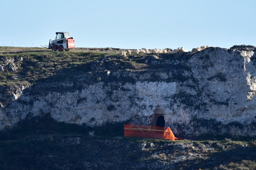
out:
{"label": "grassy hillside patch on the clifftop below the skid-steer loader", "polygon": [[[77,81],[76,76],[84,73],[93,72],[97,75],[97,72],[105,70],[139,69],[140,66],[142,68],[146,66],[144,59],[141,60],[133,55],[123,57],[118,53],[82,52],[76,48],[69,52],[53,52],[38,47],[0,46],[0,58],[2,58],[1,65],[7,65],[8,60],[11,59],[17,67],[16,72],[6,68],[4,72],[0,72],[0,86],[9,87],[20,83]],[[97,60],[99,62],[94,63]],[[110,76],[108,79],[100,75],[94,77],[101,77],[100,81],[113,81]],[[92,81],[96,82],[98,79]]]}

